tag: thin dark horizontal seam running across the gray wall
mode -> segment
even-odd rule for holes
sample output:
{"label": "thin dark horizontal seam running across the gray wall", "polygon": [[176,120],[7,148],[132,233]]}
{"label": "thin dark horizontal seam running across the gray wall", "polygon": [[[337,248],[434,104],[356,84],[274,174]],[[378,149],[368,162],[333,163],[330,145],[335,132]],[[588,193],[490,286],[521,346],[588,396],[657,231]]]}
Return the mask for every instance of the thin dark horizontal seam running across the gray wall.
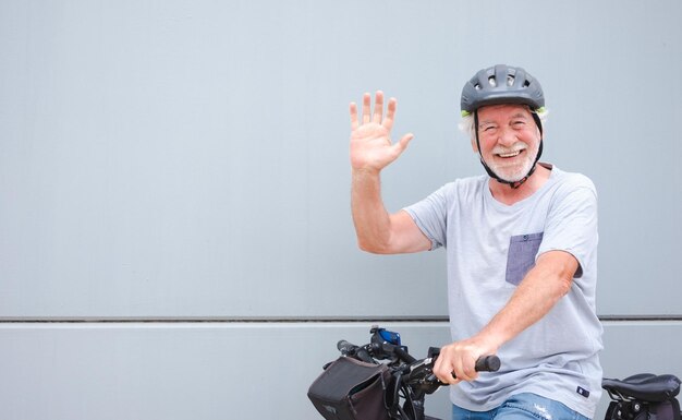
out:
{"label": "thin dark horizontal seam running across the gray wall", "polygon": [[[682,321],[682,315],[599,315],[600,321]],[[4,324],[37,323],[386,323],[449,322],[448,316],[5,316]]]}

